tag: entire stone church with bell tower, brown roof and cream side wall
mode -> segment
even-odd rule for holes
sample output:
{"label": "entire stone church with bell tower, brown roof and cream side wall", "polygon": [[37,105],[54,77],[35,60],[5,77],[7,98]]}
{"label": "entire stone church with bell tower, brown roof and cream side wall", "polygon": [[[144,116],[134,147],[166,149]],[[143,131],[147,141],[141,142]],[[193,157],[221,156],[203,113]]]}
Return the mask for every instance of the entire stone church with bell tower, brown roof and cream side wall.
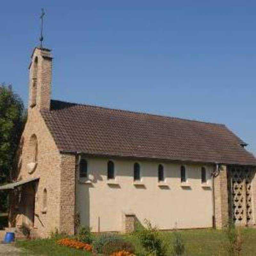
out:
{"label": "entire stone church with bell tower, brown roof and cream side wall", "polygon": [[[224,124],[51,99],[52,55],[29,66],[28,119],[9,226],[47,237],[256,224],[256,159]],[[54,86],[54,85],[53,85]]]}

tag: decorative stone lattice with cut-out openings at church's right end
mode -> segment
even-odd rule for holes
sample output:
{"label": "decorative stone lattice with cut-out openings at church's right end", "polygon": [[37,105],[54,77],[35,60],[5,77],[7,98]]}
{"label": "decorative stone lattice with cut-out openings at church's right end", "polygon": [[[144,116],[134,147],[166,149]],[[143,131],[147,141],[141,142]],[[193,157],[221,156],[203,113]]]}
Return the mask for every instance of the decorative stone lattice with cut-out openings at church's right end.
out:
{"label": "decorative stone lattice with cut-out openings at church's right end", "polygon": [[231,167],[228,171],[229,217],[235,224],[252,223],[252,186],[254,172],[249,168]]}

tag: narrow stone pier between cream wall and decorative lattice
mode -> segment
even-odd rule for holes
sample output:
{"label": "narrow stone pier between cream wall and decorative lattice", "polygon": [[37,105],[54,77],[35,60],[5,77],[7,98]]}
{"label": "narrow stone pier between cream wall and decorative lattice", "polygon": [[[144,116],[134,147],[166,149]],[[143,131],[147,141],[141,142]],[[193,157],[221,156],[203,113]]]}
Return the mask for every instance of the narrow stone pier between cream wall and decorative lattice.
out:
{"label": "narrow stone pier between cream wall and decorative lattice", "polygon": [[228,221],[227,166],[221,165],[220,173],[214,179],[215,225],[223,228]]}

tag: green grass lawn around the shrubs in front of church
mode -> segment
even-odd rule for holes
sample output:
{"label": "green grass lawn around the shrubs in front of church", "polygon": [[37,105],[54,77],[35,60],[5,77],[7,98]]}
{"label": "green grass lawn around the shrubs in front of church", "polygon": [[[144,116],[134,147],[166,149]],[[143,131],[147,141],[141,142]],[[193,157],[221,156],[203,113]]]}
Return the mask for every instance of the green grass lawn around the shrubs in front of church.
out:
{"label": "green grass lawn around the shrubs in front of church", "polygon": [[[227,255],[225,251],[227,238],[223,231],[215,229],[195,229],[180,231],[185,242],[185,255]],[[243,251],[242,255],[256,255],[256,229],[244,228],[243,234]],[[172,255],[173,233],[161,232],[163,240],[168,244],[167,255]],[[136,248],[136,255],[145,255],[140,241],[135,236],[124,235],[124,238],[131,241]],[[16,246],[26,250],[22,255],[92,255],[91,253],[69,249],[55,243],[54,239],[36,239],[27,241],[18,241]]]}

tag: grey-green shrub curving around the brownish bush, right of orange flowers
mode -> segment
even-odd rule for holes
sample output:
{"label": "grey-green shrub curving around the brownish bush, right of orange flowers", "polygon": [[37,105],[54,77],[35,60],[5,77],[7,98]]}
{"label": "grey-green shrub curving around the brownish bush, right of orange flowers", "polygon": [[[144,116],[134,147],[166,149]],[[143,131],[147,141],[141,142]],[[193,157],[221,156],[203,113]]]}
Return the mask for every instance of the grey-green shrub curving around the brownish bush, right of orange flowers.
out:
{"label": "grey-green shrub curving around the brownish bush, right of orange flowers", "polygon": [[95,253],[103,253],[103,246],[107,243],[120,244],[124,240],[121,236],[111,235],[111,234],[103,234],[95,239],[92,243],[92,250]]}

